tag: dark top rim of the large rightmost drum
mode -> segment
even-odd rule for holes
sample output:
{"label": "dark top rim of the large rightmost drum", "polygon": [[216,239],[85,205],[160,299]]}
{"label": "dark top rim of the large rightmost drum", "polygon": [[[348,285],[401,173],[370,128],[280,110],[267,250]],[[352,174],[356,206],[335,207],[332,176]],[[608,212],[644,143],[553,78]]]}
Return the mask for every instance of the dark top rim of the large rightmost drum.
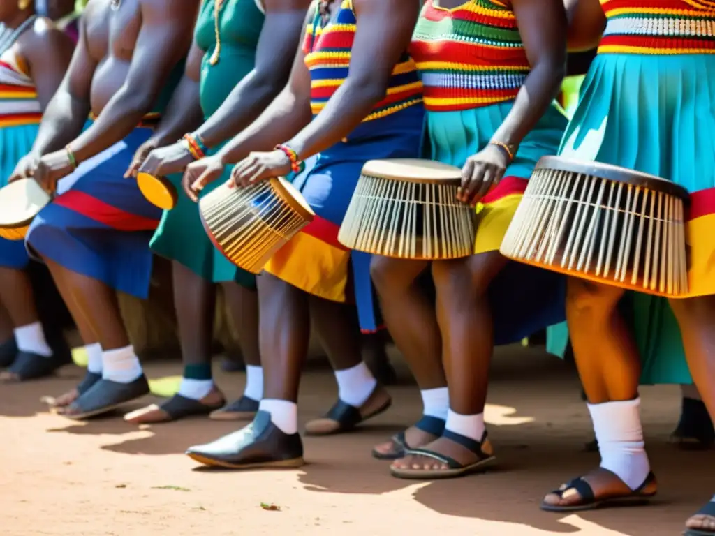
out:
{"label": "dark top rim of the large rightmost drum", "polygon": [[534,167],[537,169],[552,169],[562,172],[579,173],[607,179],[614,182],[631,184],[636,187],[646,187],[657,192],[663,192],[674,197],[679,197],[684,202],[690,199],[689,192],[679,184],[656,177],[655,175],[637,172],[627,167],[614,166],[613,164],[603,164],[602,162],[583,162],[576,159],[548,156],[541,157]]}

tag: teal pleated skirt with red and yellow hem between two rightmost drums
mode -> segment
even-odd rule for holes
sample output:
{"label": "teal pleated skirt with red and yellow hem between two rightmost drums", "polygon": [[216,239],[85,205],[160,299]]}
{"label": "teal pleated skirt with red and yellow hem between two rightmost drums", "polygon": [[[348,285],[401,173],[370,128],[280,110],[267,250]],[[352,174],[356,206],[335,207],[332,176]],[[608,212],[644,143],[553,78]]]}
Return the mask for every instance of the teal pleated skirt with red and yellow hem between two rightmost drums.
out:
{"label": "teal pleated skirt with red and yellow hem between two rightmost drums", "polygon": [[[489,143],[511,110],[512,102],[464,111],[428,112],[426,134],[430,156],[462,167]],[[556,154],[566,116],[551,106],[527,134],[503,179],[477,205],[475,253],[501,246],[528,178],[541,157]],[[566,279],[560,274],[509,262],[489,288],[495,344],[509,344],[566,318]]]}

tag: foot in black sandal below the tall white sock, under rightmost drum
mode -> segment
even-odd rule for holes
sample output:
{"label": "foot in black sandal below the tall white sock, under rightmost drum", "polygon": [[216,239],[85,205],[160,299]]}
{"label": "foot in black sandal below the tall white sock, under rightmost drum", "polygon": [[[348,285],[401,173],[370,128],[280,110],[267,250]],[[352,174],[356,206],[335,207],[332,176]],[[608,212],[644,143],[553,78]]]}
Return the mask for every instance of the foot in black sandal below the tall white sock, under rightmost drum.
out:
{"label": "foot in black sandal below the tall white sock, under rightmost drum", "polygon": [[658,490],[655,477],[652,477],[652,480],[647,482],[640,490],[634,491],[615,473],[601,467],[589,472],[581,477],[580,480],[583,480],[591,487],[593,499],[582,497],[575,487],[563,484],[558,488],[558,492],[551,492],[543,498],[542,507],[593,507],[594,503],[608,500],[638,497],[645,499],[655,495]]}

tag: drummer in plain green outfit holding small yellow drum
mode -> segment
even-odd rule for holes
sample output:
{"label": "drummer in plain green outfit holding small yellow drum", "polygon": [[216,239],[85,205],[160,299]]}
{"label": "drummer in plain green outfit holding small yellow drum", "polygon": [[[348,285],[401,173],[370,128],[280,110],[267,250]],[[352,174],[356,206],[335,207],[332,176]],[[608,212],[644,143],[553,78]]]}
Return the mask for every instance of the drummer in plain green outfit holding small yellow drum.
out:
{"label": "drummer in plain green outfit holding small yellow drum", "polygon": [[[189,152],[185,141],[175,140],[185,135],[207,152],[216,152],[257,118],[285,86],[310,0],[225,1],[220,4],[218,41],[215,5],[214,0],[204,0],[186,72],[169,113],[139,147],[129,168],[129,174],[169,175],[179,190],[177,206],[164,211],[151,247],[173,261],[184,374],[172,399],[125,417],[137,423],[208,414],[224,405],[211,372],[215,283],[224,289],[246,362],[243,396],[215,417],[251,420],[263,392],[255,277],[218,252],[204,232],[196,204],[181,191],[179,174],[201,155]],[[229,174],[227,169],[224,179],[212,187]]]}

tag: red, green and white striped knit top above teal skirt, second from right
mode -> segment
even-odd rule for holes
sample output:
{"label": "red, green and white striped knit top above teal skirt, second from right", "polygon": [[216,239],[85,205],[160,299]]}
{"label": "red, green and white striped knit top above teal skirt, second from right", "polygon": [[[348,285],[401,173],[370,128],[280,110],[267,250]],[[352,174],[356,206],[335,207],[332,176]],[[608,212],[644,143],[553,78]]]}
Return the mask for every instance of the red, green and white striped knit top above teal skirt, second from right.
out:
{"label": "red, green and white striped knit top above teal skirt, second from right", "polygon": [[410,54],[425,85],[425,109],[430,111],[513,100],[530,69],[506,0],[469,0],[454,9],[426,0]]}

